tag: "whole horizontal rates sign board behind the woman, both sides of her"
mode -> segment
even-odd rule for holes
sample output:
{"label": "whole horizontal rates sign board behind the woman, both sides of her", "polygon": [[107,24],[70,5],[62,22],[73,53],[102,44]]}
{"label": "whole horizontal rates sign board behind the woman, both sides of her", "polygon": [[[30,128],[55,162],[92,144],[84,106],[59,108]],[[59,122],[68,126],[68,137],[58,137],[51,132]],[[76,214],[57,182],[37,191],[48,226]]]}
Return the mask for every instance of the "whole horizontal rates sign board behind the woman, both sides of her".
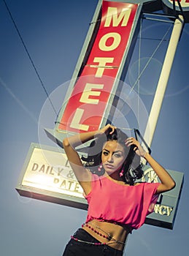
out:
{"label": "whole horizontal rates sign board behind the woman, both sides of her", "polygon": [[[146,218],[145,223],[172,229],[184,176],[174,170],[168,172],[177,185],[159,196],[154,212]],[[154,170],[147,166],[144,167],[142,181],[159,182]],[[82,187],[62,148],[31,143],[16,189],[20,195],[26,197],[88,209]]]}

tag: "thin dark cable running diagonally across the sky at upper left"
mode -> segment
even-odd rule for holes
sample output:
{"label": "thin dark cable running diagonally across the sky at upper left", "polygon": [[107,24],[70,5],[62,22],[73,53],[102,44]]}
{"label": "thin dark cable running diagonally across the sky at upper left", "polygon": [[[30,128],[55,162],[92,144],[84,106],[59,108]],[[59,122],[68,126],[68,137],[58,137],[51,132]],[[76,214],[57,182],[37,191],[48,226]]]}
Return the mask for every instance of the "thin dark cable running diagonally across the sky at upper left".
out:
{"label": "thin dark cable running diagonally across the sky at upper left", "polygon": [[44,89],[45,94],[47,95],[47,98],[48,98],[49,101],[50,101],[50,105],[52,106],[55,115],[58,116],[58,114],[57,114],[57,112],[56,112],[56,110],[55,110],[55,107],[54,107],[54,105],[53,105],[53,102],[51,101],[50,96],[49,96],[49,94],[47,93],[47,90],[45,89],[45,85],[44,85],[44,83],[42,82],[42,79],[41,79],[40,76],[39,76],[39,72],[37,72],[37,70],[36,70],[34,61],[31,59],[31,56],[30,56],[30,54],[29,54],[29,52],[28,52],[28,49],[26,48],[26,44],[25,44],[25,42],[23,41],[23,38],[22,38],[22,36],[21,36],[21,34],[20,34],[20,31],[19,31],[19,29],[18,29],[18,26],[16,25],[15,20],[14,20],[14,18],[12,17],[12,13],[10,12],[9,7],[7,6],[6,1],[5,1],[5,0],[2,0],[2,1],[4,1],[4,5],[5,5],[5,7],[7,8],[7,12],[9,12],[9,16],[10,16],[10,18],[11,18],[11,20],[12,20],[12,23],[14,24],[15,29],[16,29],[16,31],[18,32],[18,36],[20,37],[20,40],[21,40],[21,42],[22,42],[22,44],[23,44],[23,47],[24,47],[25,50],[26,50],[26,53],[27,53],[27,55],[28,55],[28,58],[29,58],[29,60],[31,61],[32,67],[34,67],[34,70],[35,70],[35,72],[36,72],[37,77],[39,78],[39,81],[40,81],[40,83],[41,83],[41,85],[42,85],[42,88]]}

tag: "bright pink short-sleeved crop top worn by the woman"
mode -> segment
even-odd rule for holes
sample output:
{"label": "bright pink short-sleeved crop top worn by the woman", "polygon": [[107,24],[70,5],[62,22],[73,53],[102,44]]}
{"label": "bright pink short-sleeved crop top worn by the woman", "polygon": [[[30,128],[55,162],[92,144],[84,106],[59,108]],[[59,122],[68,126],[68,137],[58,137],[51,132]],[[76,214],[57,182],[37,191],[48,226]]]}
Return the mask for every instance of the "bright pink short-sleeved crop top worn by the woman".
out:
{"label": "bright pink short-sleeved crop top worn by the woman", "polygon": [[138,229],[144,224],[147,214],[153,212],[159,183],[140,183],[124,186],[107,177],[93,175],[92,189],[85,196],[88,200],[88,216],[92,219],[117,222]]}

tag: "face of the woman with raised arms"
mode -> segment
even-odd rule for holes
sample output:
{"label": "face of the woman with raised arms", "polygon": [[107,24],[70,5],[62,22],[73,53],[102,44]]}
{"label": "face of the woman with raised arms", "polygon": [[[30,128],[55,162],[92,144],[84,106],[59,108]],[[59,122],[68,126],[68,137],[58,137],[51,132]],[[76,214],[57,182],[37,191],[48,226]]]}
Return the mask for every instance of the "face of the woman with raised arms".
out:
{"label": "face of the woman with raised arms", "polygon": [[109,140],[104,143],[101,154],[101,162],[104,170],[108,173],[115,173],[120,170],[123,162],[126,159],[124,148],[117,140]]}

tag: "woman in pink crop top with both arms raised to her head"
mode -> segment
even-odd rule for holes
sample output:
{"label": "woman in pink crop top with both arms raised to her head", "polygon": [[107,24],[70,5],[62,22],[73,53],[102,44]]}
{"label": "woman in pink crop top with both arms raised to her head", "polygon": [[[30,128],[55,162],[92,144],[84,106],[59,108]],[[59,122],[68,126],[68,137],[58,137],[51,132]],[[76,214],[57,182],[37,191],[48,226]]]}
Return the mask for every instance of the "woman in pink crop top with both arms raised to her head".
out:
{"label": "woman in pink crop top with both arms raised to her head", "polygon": [[[82,157],[84,167],[75,148],[89,140],[93,142],[88,157]],[[88,200],[86,222],[74,233],[63,256],[123,255],[128,233],[144,224],[158,194],[173,189],[174,180],[139,141],[111,124],[65,138],[63,148]],[[161,183],[135,182],[142,178],[140,157]]]}

